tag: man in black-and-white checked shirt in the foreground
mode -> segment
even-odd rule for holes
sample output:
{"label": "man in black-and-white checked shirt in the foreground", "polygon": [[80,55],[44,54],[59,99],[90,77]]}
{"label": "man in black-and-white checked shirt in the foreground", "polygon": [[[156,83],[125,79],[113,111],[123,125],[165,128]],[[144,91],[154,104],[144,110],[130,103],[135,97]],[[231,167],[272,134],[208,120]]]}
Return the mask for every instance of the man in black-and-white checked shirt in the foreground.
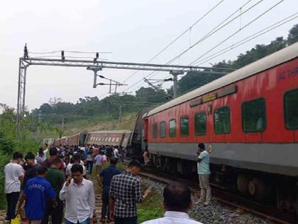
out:
{"label": "man in black-and-white checked shirt in the foreground", "polygon": [[115,224],[136,224],[136,203],[148,197],[150,190],[142,195],[140,180],[136,178],[140,171],[140,163],[131,161],[122,174],[114,176],[110,188],[111,220]]}

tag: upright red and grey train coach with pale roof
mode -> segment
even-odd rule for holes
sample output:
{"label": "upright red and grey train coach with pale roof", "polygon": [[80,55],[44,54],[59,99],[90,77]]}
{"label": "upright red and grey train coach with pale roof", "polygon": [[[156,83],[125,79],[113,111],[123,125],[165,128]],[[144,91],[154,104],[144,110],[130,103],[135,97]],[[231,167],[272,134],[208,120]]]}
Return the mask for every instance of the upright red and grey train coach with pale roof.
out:
{"label": "upright red and grey train coach with pale roof", "polygon": [[297,209],[288,198],[298,198],[297,57],[298,43],[150,110],[144,135],[155,164],[196,171],[197,143],[211,144],[214,174],[236,171],[238,190],[259,199],[274,183],[279,206]]}

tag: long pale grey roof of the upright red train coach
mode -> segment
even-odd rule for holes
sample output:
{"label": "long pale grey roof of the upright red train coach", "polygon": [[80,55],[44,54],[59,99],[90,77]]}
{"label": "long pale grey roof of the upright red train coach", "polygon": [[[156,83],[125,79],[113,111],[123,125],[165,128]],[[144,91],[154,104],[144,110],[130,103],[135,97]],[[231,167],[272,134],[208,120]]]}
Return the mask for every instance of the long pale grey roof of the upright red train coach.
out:
{"label": "long pale grey roof of the upright red train coach", "polygon": [[148,113],[144,114],[143,117],[149,117],[153,114],[156,114],[162,110],[167,110],[170,107],[174,107],[175,105],[180,105],[183,102],[187,102],[192,100],[200,95],[204,95],[208,92],[219,89],[220,87],[224,87],[233,82],[237,82],[238,80],[243,80],[244,78],[248,78],[251,75],[256,73],[260,73],[263,70],[267,70],[269,68],[275,67],[276,65],[280,65],[281,63],[285,63],[288,60],[292,60],[298,57],[298,43],[294,43],[287,48],[283,48],[282,50],[278,50],[271,55],[267,55],[260,60],[255,61],[254,63],[250,63],[249,65],[245,65],[243,68],[239,68],[238,70],[233,71],[232,73],[228,73],[228,75],[224,75],[217,80],[209,82],[202,87],[198,87],[191,92],[187,92],[186,94],[177,97],[170,102],[166,102],[159,107],[150,110]]}

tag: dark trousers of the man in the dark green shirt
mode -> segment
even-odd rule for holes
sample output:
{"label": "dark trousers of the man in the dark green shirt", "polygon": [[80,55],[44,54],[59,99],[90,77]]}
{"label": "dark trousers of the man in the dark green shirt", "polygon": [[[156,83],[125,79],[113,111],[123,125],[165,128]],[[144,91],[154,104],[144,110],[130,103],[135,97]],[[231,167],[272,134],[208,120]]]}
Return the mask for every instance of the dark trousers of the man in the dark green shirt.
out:
{"label": "dark trousers of the man in the dark green shirt", "polygon": [[48,199],[45,205],[45,215],[41,224],[48,224],[49,216],[52,217],[53,224],[61,224],[63,217],[63,202],[60,200],[59,195],[56,196],[57,207],[53,208],[52,200]]}

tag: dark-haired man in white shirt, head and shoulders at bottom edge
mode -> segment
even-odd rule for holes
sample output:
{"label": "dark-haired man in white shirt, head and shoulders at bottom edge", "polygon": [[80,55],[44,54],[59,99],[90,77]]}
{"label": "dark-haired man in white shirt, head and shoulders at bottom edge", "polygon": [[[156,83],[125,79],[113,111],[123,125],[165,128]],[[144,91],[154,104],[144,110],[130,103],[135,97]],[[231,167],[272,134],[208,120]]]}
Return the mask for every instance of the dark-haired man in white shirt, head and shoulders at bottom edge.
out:
{"label": "dark-haired man in white shirt, head and shoulders at bottom edge", "polygon": [[187,185],[170,182],[163,191],[163,218],[146,221],[142,224],[202,224],[189,218],[187,212],[192,208],[192,198]]}

